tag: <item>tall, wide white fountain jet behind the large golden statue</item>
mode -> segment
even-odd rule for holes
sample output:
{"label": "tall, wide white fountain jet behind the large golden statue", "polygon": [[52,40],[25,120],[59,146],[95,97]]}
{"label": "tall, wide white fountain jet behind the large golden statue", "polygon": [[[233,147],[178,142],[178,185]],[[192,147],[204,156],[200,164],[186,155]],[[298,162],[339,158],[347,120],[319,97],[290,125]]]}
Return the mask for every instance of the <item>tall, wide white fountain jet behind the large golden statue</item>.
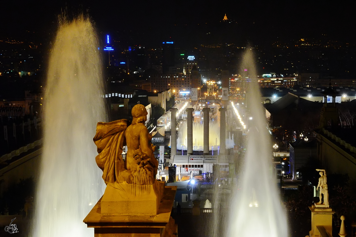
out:
{"label": "tall, wide white fountain jet behind the large golden statue", "polygon": [[34,237],[94,236],[83,219],[105,190],[93,143],[96,123],[107,120],[98,46],[83,16],[58,29],[47,74]]}

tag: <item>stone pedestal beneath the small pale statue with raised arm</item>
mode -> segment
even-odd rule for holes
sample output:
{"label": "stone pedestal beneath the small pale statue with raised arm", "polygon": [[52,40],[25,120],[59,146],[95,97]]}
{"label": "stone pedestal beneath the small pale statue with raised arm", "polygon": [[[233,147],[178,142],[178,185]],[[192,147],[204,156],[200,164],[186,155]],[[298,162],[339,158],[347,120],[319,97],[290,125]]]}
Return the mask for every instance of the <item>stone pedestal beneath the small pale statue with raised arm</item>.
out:
{"label": "stone pedestal beneath the small pale statue with raised arm", "polygon": [[[328,207],[326,207],[328,206]],[[309,206],[310,211],[312,211],[312,230],[309,231],[310,237],[319,237],[321,234],[331,233],[333,231],[332,221],[333,221],[333,211],[329,208],[329,205],[317,205],[313,204]]]}

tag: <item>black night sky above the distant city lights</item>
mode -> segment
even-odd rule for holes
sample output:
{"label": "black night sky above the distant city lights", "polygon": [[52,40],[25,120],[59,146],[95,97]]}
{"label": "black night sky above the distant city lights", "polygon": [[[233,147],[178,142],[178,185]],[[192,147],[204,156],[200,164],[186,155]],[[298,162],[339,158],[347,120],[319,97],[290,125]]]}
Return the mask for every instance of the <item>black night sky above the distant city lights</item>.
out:
{"label": "black night sky above the distant city lights", "polygon": [[[62,12],[85,12],[122,44],[178,46],[318,38],[354,43],[356,1],[1,1],[1,36],[46,42]],[[224,15],[231,23],[222,26]],[[26,33],[35,32],[35,33]],[[115,40],[114,38],[114,40]]]}

